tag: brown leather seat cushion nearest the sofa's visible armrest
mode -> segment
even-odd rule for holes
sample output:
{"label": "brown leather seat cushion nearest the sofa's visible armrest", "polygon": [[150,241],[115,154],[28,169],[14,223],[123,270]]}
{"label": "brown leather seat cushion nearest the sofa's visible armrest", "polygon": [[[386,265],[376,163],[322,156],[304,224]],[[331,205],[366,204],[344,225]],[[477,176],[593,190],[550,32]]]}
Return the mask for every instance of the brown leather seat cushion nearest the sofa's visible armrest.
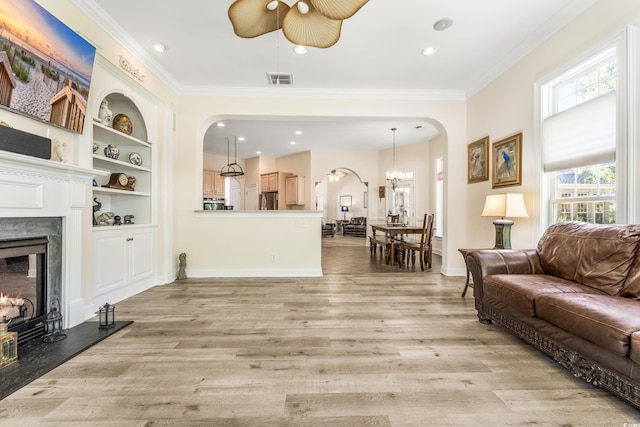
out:
{"label": "brown leather seat cushion nearest the sofa's visible armrest", "polygon": [[530,317],[536,316],[535,300],[541,295],[581,292],[604,295],[597,289],[544,274],[494,274],[483,278],[482,287],[485,295]]}

